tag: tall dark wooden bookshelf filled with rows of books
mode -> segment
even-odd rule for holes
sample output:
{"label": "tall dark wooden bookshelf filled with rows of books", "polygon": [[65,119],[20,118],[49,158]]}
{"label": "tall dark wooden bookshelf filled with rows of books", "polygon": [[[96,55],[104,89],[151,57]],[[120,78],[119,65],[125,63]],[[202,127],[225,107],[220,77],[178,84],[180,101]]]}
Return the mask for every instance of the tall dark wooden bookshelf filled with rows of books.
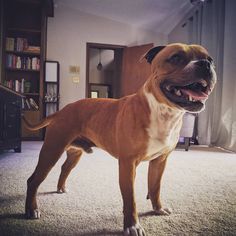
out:
{"label": "tall dark wooden bookshelf filled with rows of books", "polygon": [[[3,0],[1,84],[24,95],[22,112],[37,123],[44,112],[44,61],[47,17],[52,0]],[[41,140],[43,134],[22,125],[22,139]]]}

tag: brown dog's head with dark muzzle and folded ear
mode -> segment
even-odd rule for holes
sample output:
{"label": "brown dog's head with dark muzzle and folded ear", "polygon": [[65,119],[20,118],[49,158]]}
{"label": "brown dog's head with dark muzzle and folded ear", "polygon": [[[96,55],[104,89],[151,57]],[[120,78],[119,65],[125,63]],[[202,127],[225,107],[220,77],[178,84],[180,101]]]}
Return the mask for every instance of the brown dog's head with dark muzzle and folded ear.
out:
{"label": "brown dog's head with dark muzzle and folded ear", "polygon": [[169,44],[150,49],[152,93],[157,100],[188,112],[200,112],[216,83],[213,60],[200,45]]}

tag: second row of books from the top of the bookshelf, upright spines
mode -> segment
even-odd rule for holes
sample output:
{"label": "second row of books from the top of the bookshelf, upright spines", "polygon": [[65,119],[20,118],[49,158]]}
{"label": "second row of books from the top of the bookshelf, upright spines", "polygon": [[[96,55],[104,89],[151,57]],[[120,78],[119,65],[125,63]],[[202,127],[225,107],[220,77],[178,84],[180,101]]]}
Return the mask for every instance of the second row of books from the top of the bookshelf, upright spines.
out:
{"label": "second row of books from the top of the bookshelf, upright spines", "polygon": [[14,69],[39,70],[40,59],[38,57],[24,57],[7,54],[6,66]]}

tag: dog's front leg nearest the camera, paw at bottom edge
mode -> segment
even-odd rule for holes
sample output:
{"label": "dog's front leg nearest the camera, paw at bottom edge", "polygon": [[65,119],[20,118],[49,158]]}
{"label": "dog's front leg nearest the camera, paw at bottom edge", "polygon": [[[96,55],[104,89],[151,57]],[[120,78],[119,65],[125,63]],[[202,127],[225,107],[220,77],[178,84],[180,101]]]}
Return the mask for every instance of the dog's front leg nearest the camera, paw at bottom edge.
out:
{"label": "dog's front leg nearest the camera, paw at bottom edge", "polygon": [[136,164],[130,160],[119,160],[119,183],[123,198],[124,235],[144,236],[139,224],[134,196]]}

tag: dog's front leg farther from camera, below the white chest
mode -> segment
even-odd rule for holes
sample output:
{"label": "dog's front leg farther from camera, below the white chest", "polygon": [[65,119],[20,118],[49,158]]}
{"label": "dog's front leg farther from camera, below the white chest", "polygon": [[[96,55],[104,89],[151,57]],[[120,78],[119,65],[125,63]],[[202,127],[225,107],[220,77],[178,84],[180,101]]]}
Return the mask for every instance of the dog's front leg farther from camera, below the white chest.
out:
{"label": "dog's front leg farther from camera, below the white chest", "polygon": [[149,162],[148,168],[148,198],[152,202],[153,210],[158,215],[169,215],[171,210],[162,208],[160,200],[161,179],[165,170],[168,154],[162,155]]}

